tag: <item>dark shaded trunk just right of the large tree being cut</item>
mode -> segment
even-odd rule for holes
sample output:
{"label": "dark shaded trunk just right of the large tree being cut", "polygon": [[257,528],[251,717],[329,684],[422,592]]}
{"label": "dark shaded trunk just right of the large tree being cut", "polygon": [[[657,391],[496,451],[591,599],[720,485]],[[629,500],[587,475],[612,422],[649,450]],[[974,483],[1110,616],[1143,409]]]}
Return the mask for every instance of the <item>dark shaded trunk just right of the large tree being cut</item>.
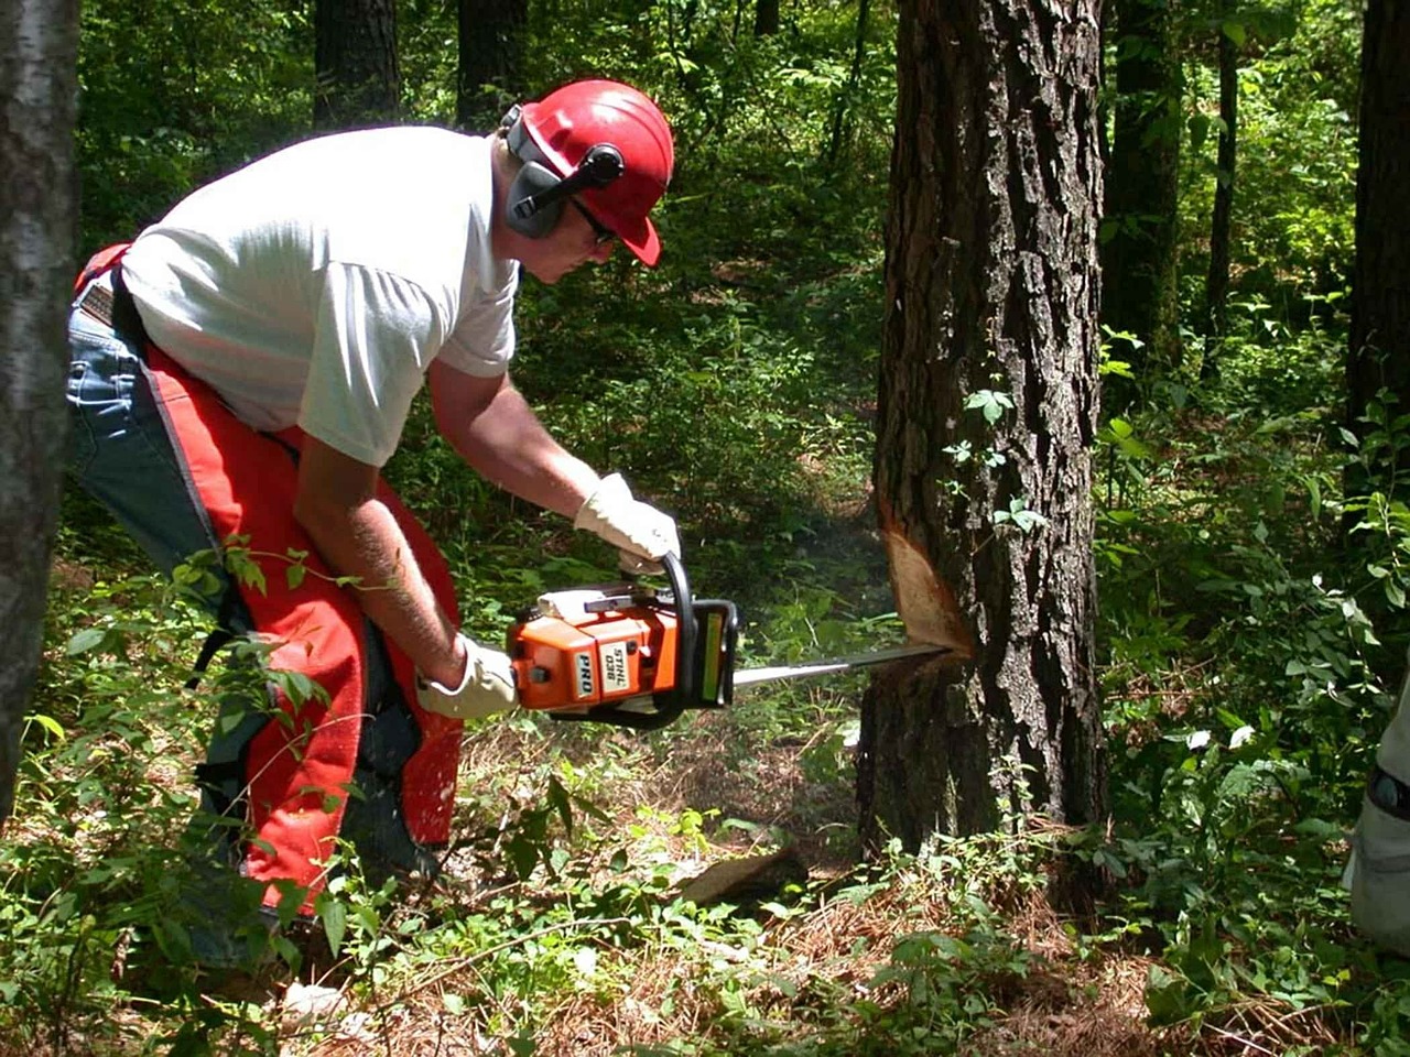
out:
{"label": "dark shaded trunk just right of the large tree being cut", "polygon": [[[1180,362],[1180,62],[1166,3],[1117,0],[1114,16],[1117,97],[1105,178],[1101,316],[1111,330],[1145,342],[1144,359],[1175,366]],[[1127,359],[1131,350],[1121,352]],[[1111,410],[1111,399],[1105,403]]]}

